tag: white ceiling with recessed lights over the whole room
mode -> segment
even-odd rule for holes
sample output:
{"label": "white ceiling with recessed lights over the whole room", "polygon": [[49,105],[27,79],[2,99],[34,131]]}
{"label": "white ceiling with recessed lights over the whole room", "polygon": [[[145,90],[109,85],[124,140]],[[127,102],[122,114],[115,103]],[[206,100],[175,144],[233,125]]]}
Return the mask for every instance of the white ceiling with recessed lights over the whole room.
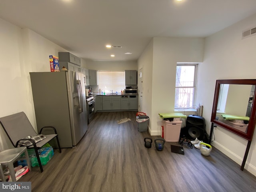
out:
{"label": "white ceiling with recessed lights over the whole room", "polygon": [[206,37],[255,13],[256,0],[0,0],[0,18],[104,61],[137,60],[153,37]]}

